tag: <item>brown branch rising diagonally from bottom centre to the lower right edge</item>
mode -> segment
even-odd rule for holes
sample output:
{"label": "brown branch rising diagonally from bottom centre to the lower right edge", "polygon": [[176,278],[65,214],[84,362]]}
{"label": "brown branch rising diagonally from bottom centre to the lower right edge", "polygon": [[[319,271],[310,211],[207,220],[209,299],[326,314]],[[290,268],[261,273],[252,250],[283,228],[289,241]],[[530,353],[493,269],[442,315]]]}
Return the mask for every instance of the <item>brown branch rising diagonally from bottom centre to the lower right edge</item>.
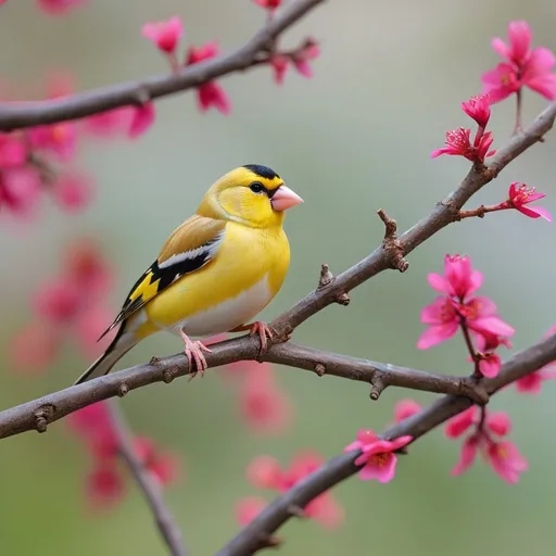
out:
{"label": "brown branch rising diagonally from bottom centre to the lower right edge", "polygon": [[[539,342],[509,358],[496,378],[485,379],[483,386],[493,394],[518,378],[533,372],[556,358],[556,336]],[[438,400],[417,415],[393,425],[382,433],[384,439],[394,439],[405,434],[413,442],[430,432],[454,415],[467,409],[471,402],[465,397],[445,396]],[[358,471],[354,464],[358,453],[348,453],[327,462],[323,467],[307,476],[299,484],[278,496],[251,523],[230,541],[217,556],[248,556],[265,546],[286,521],[294,517],[292,507],[304,508],[312,500]]]}

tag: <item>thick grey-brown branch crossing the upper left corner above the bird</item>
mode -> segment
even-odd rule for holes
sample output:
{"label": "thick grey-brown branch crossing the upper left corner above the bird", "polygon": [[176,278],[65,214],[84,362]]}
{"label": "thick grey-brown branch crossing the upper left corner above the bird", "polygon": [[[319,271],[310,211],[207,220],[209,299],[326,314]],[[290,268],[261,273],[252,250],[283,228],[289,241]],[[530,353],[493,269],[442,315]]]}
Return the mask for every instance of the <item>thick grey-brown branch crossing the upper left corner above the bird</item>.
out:
{"label": "thick grey-brown branch crossing the upper left corner above the bird", "polygon": [[235,52],[200,62],[176,74],[112,85],[72,97],[0,104],[0,131],[53,124],[91,116],[99,112],[186,91],[233,72],[260,65],[276,38],[324,0],[296,0],[273,17],[254,37]]}

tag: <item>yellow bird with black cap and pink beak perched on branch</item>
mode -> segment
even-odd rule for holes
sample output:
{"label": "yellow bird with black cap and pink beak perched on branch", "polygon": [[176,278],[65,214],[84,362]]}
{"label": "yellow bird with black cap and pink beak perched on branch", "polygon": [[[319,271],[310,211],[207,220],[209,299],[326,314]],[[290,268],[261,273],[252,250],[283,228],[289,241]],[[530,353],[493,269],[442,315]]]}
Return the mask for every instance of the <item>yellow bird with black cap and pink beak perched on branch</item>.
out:
{"label": "yellow bird with black cap and pink beak perched on branch", "polygon": [[[267,166],[247,164],[217,179],[195,214],[178,226],[129,291],[105,352],[76,384],[106,375],[137,343],[159,331],[181,337],[192,376],[211,350],[191,337],[250,330],[267,349],[271,328],[249,323],[280,290],[290,265],[285,211],[303,202]],[[194,364],[194,367],[193,367]]]}

